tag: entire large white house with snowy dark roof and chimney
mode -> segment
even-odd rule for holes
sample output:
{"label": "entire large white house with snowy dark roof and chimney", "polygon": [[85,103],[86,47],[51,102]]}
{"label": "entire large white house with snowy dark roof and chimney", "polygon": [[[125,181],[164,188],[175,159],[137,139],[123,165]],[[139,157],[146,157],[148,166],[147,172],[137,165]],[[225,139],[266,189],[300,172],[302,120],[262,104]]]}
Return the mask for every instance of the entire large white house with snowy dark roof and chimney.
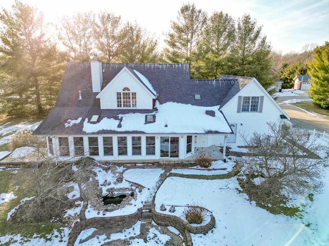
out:
{"label": "entire large white house with snowy dark roof and chimney", "polygon": [[190,79],[187,64],[68,63],[57,103],[33,135],[67,160],[191,159],[289,119],[252,77]]}

